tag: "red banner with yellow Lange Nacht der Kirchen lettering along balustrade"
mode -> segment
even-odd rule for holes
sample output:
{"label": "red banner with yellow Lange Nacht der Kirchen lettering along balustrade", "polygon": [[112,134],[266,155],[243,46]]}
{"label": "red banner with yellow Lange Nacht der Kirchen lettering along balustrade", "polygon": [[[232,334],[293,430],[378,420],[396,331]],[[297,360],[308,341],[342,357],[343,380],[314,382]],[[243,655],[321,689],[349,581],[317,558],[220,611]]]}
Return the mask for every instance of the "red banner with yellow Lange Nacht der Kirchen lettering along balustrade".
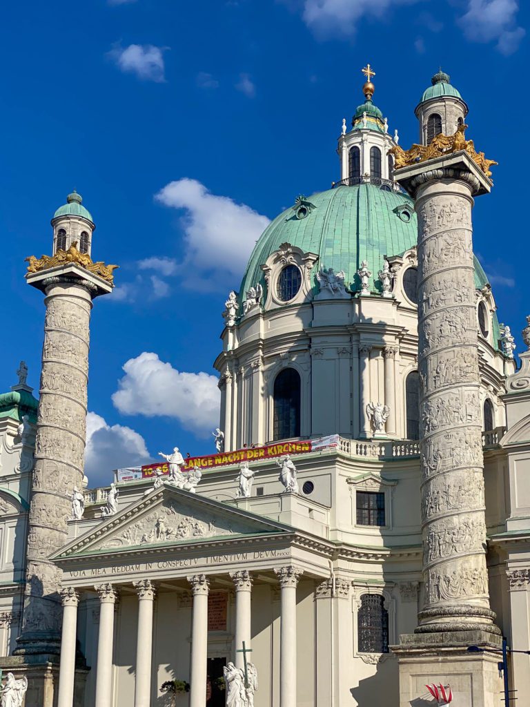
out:
{"label": "red banner with yellow Lange Nacht der Kirchen lettering along balustrade", "polygon": [[[204,470],[223,467],[228,464],[240,464],[240,462],[256,462],[281,457],[284,454],[304,454],[336,447],[337,445],[338,435],[331,435],[317,440],[278,442],[277,444],[267,445],[266,447],[238,449],[235,452],[219,452],[218,454],[206,455],[204,457],[188,457],[188,459],[184,460],[182,471],[189,471],[189,469],[194,467],[200,467],[201,470]],[[157,469],[160,469],[160,472],[163,474],[169,474],[170,465],[167,462],[158,462],[155,464],[145,464],[143,467],[117,469],[117,479],[118,481],[149,479]]]}

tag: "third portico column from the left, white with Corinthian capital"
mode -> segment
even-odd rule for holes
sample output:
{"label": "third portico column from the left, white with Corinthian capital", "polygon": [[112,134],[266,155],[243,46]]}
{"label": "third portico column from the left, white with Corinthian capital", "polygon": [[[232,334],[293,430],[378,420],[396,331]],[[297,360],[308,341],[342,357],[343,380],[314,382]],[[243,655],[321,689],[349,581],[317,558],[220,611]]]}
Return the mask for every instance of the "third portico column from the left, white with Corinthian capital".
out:
{"label": "third portico column from the left, white with Corinthian capital", "polygon": [[151,704],[151,653],[153,652],[153,602],[155,588],[151,580],[134,582],[138,593],[138,636],[136,641],[136,688],[134,707]]}

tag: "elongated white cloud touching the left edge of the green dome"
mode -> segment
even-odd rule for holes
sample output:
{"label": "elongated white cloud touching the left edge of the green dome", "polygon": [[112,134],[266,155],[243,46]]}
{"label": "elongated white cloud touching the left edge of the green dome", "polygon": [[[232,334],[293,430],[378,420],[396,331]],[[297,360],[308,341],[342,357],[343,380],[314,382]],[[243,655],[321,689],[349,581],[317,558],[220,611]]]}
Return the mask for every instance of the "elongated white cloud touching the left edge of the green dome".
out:
{"label": "elongated white cloud touching the left edge of the green dome", "polygon": [[269,218],[246,204],[211,194],[201,182],[170,182],[155,195],[156,201],[184,209],[185,252],[182,283],[209,289],[227,289],[245,269],[254,243]]}

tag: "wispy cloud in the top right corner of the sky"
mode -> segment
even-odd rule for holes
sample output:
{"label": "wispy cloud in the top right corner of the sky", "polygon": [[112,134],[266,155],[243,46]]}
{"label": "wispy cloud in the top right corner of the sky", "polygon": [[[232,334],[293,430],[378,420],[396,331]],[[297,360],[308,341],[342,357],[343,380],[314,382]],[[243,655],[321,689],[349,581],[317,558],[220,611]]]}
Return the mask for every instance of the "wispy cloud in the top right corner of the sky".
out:
{"label": "wispy cloud in the top right corner of the sky", "polygon": [[472,42],[497,40],[502,54],[513,54],[526,34],[517,27],[517,0],[469,0],[468,10],[460,18],[464,34]]}

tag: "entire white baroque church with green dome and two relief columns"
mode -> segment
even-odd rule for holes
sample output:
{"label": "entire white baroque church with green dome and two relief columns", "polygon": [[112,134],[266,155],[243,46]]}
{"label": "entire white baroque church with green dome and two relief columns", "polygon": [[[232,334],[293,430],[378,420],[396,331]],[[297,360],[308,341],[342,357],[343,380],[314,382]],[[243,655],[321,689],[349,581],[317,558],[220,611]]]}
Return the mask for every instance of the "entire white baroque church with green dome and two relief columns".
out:
{"label": "entire white baroque church with green dome and two relief columns", "polygon": [[[25,707],[216,707],[230,662],[258,676],[232,707],[421,707],[432,683],[493,707],[501,636],[530,650],[530,350],[518,369],[471,248],[488,165],[447,74],[407,153],[365,74],[341,179],[269,224],[226,301],[218,454],[86,488],[113,266],[76,192],[28,259],[40,395],[22,364],[0,395],[0,668]],[[528,694],[529,655],[509,678]]]}

